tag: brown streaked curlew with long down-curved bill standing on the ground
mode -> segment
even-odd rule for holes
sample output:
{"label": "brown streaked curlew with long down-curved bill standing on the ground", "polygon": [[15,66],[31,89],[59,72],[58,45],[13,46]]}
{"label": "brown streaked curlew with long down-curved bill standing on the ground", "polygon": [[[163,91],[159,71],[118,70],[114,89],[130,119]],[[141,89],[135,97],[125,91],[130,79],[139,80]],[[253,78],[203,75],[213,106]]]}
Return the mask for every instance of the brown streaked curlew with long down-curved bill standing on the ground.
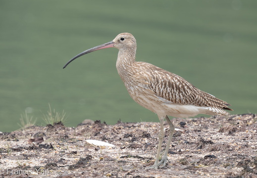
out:
{"label": "brown streaked curlew with long down-curved bill standing on the ground", "polygon": [[[76,58],[90,52],[115,47],[118,51],[116,68],[130,96],[141,106],[157,114],[160,121],[158,148],[154,165],[148,169],[161,169],[168,161],[167,154],[175,131],[168,116],[188,118],[198,114],[229,115],[230,104],[202,91],[182,77],[161,69],[147,62],[138,62],[136,58],[137,43],[130,33],[121,33],[111,42],[99,45],[79,53],[70,59],[63,69]],[[162,155],[160,152],[164,137],[164,120],[170,129],[167,145]]]}

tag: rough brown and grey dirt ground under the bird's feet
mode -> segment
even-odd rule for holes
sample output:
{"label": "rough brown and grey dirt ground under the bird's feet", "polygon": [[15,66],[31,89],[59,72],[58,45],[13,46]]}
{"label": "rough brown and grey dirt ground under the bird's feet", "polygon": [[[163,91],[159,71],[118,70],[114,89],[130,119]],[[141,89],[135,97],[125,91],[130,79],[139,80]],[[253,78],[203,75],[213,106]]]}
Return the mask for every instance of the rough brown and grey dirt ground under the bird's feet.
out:
{"label": "rough brown and grey dirt ground under the bird's feet", "polygon": [[[174,134],[163,169],[146,169],[154,164],[159,123],[85,120],[76,128],[57,123],[0,133],[0,177],[257,178],[256,115],[172,122],[185,134]],[[162,152],[169,134],[164,127]],[[86,139],[115,147],[93,146]]]}

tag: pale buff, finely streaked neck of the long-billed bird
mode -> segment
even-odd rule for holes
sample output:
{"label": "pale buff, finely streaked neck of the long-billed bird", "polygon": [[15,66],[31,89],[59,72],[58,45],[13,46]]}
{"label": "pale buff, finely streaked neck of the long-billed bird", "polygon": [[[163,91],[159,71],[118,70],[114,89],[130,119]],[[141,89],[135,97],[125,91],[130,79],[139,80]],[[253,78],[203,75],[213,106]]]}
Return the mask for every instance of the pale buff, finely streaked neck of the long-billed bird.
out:
{"label": "pale buff, finely streaked neck of the long-billed bird", "polygon": [[135,62],[135,58],[136,50],[119,49],[116,68],[122,80],[131,76],[132,70],[130,69],[132,64]]}

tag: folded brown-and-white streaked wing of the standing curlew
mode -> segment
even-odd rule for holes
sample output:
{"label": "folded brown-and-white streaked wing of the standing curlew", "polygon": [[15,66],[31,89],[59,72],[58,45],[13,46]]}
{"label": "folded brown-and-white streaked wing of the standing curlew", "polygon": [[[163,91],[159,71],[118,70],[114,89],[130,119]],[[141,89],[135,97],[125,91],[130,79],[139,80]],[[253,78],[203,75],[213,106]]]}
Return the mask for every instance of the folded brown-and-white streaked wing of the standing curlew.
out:
{"label": "folded brown-and-white streaked wing of the standing curlew", "polygon": [[174,104],[232,110],[228,108],[229,104],[227,102],[197,89],[182,77],[154,65],[148,66],[148,70],[142,70],[141,73],[141,75],[146,76],[145,81],[148,89],[154,91],[158,97]]}

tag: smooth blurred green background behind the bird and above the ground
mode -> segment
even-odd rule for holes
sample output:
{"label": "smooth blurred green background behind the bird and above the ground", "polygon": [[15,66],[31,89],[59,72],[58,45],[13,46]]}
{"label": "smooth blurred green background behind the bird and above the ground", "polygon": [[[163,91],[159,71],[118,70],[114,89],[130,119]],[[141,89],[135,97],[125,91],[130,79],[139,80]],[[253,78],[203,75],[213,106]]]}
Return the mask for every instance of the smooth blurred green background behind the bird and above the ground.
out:
{"label": "smooth blurred green background behind the bird and above the ground", "polygon": [[154,121],[135,103],[103,49],[63,65],[122,32],[137,39],[137,60],[180,75],[229,102],[231,114],[257,113],[256,0],[1,0],[0,131],[20,114],[51,109],[66,126],[84,119]]}

